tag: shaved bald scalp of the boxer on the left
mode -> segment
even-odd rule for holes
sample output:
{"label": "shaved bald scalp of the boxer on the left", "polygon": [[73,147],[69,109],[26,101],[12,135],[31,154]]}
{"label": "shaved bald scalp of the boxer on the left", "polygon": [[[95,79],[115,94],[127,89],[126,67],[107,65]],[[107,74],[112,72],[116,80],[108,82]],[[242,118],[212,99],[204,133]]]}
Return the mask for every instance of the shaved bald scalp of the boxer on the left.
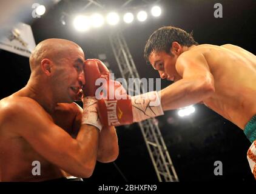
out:
{"label": "shaved bald scalp of the boxer on the left", "polygon": [[79,49],[83,52],[75,42],[57,38],[45,39],[36,45],[32,55],[30,55],[30,69],[31,71],[35,70],[41,64],[42,59],[45,58],[58,63],[62,58],[69,56],[70,50],[73,49]]}

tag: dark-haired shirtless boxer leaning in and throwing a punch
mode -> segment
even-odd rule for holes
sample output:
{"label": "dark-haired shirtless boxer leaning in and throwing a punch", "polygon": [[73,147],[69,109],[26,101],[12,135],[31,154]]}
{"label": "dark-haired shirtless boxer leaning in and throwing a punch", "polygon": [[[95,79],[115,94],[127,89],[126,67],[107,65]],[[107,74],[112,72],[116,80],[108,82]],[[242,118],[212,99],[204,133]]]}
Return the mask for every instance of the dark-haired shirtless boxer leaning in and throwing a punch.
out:
{"label": "dark-haired shirtless boxer leaning in and throwing a punch", "polygon": [[[248,158],[256,178],[256,56],[232,44],[198,45],[192,35],[172,26],[152,33],[144,56],[162,79],[174,83],[127,100],[100,99],[104,125],[139,122],[163,115],[164,110],[203,102],[254,141]],[[123,94],[115,92],[115,96]]]}

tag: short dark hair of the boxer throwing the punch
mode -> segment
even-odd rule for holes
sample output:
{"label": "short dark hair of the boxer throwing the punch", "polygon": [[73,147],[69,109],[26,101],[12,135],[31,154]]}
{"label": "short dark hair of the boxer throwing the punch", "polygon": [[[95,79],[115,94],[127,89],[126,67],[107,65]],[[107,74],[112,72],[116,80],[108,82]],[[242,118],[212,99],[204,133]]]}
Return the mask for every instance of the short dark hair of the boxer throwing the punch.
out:
{"label": "short dark hair of the boxer throwing the punch", "polygon": [[180,45],[190,47],[191,45],[198,45],[198,43],[192,37],[192,33],[187,33],[181,28],[173,26],[161,27],[147,40],[144,57],[147,62],[149,62],[149,55],[154,52],[165,51],[170,53],[170,48],[172,47],[172,42],[178,42]]}

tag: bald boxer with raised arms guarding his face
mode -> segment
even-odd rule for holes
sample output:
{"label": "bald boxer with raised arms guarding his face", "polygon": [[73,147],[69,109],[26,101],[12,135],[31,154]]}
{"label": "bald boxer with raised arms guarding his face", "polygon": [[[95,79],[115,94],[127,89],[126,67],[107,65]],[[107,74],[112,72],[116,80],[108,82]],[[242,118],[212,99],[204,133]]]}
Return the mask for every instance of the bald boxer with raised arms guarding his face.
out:
{"label": "bald boxer with raised arms guarding his face", "polygon": [[86,99],[84,110],[73,102],[87,89],[81,47],[47,39],[29,61],[27,85],[0,101],[0,181],[81,180],[115,160],[115,128],[89,118]]}

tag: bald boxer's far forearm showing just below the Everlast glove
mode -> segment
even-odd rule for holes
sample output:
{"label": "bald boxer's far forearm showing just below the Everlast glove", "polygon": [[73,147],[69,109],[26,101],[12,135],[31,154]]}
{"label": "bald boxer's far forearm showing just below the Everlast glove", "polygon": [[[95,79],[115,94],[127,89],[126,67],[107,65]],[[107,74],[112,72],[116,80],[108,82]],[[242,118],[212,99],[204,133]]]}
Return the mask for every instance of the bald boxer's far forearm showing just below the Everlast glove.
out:
{"label": "bald boxer's far forearm showing just below the Everlast glove", "polygon": [[118,138],[115,127],[103,127],[99,135],[97,160],[99,162],[112,162],[118,157]]}

